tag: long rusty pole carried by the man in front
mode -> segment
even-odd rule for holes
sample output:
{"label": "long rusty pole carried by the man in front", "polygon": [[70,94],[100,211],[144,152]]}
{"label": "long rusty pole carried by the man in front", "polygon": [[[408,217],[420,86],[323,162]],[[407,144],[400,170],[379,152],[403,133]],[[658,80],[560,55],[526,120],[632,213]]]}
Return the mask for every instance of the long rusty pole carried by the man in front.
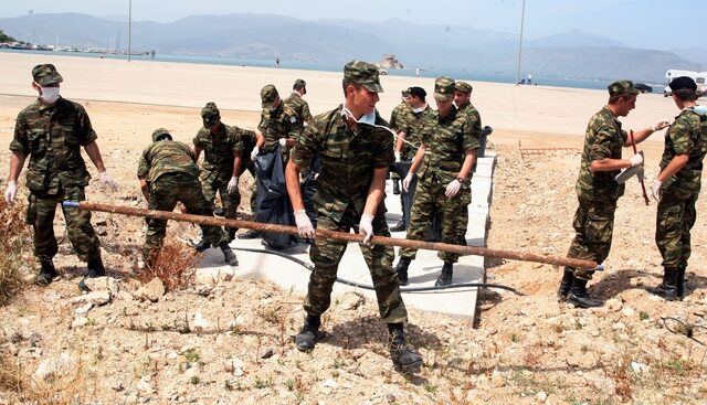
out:
{"label": "long rusty pole carried by the man in front", "polygon": [[[102,204],[102,203],[95,203],[95,202],[88,202],[88,201],[81,201],[81,202],[64,201],[63,206],[77,207],[77,209],[87,210],[87,211],[102,211],[102,212],[109,212],[114,214],[141,216],[141,217],[149,216],[149,217],[155,217],[160,220],[190,222],[190,223],[202,224],[202,225],[239,227],[239,228],[257,230],[262,232],[274,232],[274,233],[297,235],[296,226],[265,224],[265,223],[253,222],[253,221],[226,220],[226,219],[220,219],[214,216],[178,214],[176,212],[144,210],[144,209],[136,209],[131,206]],[[325,237],[330,239],[339,239],[339,241],[348,241],[348,242],[357,242],[357,243],[363,242],[363,236],[359,234],[328,231],[328,230],[321,230],[321,228],[316,231],[316,237]],[[521,262],[545,263],[545,264],[557,265],[557,266],[570,266],[570,267],[577,267],[577,268],[597,268],[598,267],[598,264],[591,260],[539,255],[539,254],[528,253],[528,252],[489,249],[485,247],[450,245],[446,243],[410,241],[410,239],[400,239],[395,237],[386,237],[386,236],[373,236],[371,242],[377,245],[412,247],[416,249],[428,249],[428,251],[440,251],[440,252],[455,253],[458,255],[508,258],[508,259],[521,260]]]}

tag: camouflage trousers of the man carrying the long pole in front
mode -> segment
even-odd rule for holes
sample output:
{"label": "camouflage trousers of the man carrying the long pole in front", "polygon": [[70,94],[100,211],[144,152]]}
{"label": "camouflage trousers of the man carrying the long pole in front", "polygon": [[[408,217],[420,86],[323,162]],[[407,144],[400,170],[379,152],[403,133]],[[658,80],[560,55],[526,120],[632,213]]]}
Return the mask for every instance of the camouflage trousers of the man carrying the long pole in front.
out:
{"label": "camouflage trousers of the man carrying the long pole in front", "polygon": [[[341,221],[336,222],[326,216],[325,212],[318,212],[318,228],[349,232],[357,231],[360,215],[349,205]],[[388,224],[383,216],[373,219],[373,234],[390,236]],[[335,241],[317,237],[309,249],[309,258],[314,263],[314,271],[309,276],[307,297],[304,309],[310,316],[320,316],[331,305],[331,288],[336,281],[336,274],[341,257],[346,252],[346,241]],[[378,310],[384,323],[399,323],[408,321],[408,310],[400,296],[398,275],[393,270],[394,251],[390,246],[374,245],[368,247],[360,245],[363,258],[373,280]]]}

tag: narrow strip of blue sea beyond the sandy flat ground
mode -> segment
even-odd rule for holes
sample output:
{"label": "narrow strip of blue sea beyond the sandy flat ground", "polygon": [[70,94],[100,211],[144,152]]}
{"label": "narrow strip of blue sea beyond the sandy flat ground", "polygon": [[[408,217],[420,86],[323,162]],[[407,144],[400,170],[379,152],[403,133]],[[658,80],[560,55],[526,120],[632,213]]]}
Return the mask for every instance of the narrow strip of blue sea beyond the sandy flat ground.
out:
{"label": "narrow strip of blue sea beyond the sandy flat ground", "polygon": [[[2,49],[3,53],[56,53],[67,56],[77,57],[105,57],[105,58],[122,58],[127,60],[126,55],[110,54],[110,53],[88,53],[88,52],[60,52],[60,51],[25,51],[25,50],[7,50]],[[135,54],[130,55],[130,60],[134,61],[156,61],[156,62],[178,62],[178,63],[196,63],[196,64],[209,64],[209,65],[235,65],[235,66],[257,66],[257,67],[276,67],[275,60],[257,60],[257,58],[233,58],[233,57],[220,57],[220,56],[186,56],[186,55],[160,55],[151,56],[149,54]],[[281,68],[294,68],[303,71],[318,71],[318,72],[339,72],[341,70],[341,63],[326,63],[326,62],[304,62],[304,61],[279,61]],[[454,77],[460,81],[468,82],[493,82],[493,83],[518,83],[517,75],[507,73],[477,73],[465,68],[402,68],[402,70],[387,70],[391,76],[420,76],[420,77],[439,77],[442,75]],[[521,71],[523,72],[523,71]],[[542,86],[556,86],[556,87],[573,87],[573,88],[594,88],[605,89],[610,84],[608,79],[599,78],[579,78],[579,77],[556,77],[544,76],[537,72],[523,72],[520,81],[525,81],[526,85],[528,81],[528,74],[531,74],[531,85]],[[654,85],[654,92],[662,92],[662,87]]]}

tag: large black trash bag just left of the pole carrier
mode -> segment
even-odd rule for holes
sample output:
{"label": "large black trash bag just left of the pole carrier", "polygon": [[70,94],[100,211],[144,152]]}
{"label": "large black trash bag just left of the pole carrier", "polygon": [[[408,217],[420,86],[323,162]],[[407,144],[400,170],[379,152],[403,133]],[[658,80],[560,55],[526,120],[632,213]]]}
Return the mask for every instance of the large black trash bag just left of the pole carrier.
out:
{"label": "large black trash bag just left of the pole carrier", "polygon": [[[276,225],[295,225],[292,203],[285,185],[285,166],[279,146],[255,159],[257,178],[257,200],[255,221]],[[286,248],[297,243],[294,235],[263,232],[262,239],[268,247]]]}

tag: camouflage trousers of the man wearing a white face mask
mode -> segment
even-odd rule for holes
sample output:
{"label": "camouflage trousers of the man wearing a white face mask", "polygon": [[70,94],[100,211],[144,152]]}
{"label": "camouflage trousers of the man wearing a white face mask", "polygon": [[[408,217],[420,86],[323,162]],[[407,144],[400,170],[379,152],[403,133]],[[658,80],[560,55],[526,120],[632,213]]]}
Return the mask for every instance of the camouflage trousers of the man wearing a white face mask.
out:
{"label": "camouflage trousers of the man wearing a white face mask", "polygon": [[[27,223],[34,230],[34,256],[51,260],[59,252],[54,236],[54,215],[62,201],[84,201],[82,186],[60,186],[56,194],[32,191],[27,207]],[[66,232],[76,255],[83,262],[101,256],[101,243],[91,225],[91,211],[62,206],[66,220]]]}

